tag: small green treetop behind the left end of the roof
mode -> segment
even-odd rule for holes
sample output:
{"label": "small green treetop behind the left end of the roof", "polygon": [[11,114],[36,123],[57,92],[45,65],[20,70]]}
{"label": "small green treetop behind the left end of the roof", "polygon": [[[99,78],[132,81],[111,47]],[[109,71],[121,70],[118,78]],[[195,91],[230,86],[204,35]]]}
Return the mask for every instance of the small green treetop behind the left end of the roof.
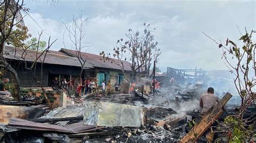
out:
{"label": "small green treetop behind the left end of the roof", "polygon": [[29,46],[28,49],[37,50],[38,48],[38,51],[44,51],[46,41],[39,41],[38,43],[37,38],[34,37],[30,41],[26,42],[26,45]]}

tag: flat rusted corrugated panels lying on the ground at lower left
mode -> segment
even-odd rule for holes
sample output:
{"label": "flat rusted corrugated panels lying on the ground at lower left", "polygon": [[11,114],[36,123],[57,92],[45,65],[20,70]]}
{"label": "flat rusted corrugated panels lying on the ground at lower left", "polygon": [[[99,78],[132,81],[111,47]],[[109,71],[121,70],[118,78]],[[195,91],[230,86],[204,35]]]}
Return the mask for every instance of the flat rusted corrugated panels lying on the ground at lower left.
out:
{"label": "flat rusted corrugated panels lying on the ground at lower left", "polygon": [[66,126],[51,125],[47,123],[35,123],[24,119],[11,118],[8,127],[37,131],[56,131],[65,133],[82,133],[86,131],[98,130],[103,127],[83,125],[83,123],[75,123]]}

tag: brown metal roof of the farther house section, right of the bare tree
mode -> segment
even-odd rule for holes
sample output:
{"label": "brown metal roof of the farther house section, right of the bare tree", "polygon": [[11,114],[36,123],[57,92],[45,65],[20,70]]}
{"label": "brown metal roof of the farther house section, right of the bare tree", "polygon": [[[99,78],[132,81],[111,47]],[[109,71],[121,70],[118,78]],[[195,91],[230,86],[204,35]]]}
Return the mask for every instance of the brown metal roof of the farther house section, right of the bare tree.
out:
{"label": "brown metal roof of the farther house section, right of the bare tree", "polygon": [[[76,55],[76,51],[73,51],[71,49],[60,49],[60,52],[64,52],[70,56]],[[111,61],[103,61],[100,60],[102,59],[101,55],[96,55],[96,54],[90,54],[90,53],[85,53],[81,52],[81,55],[83,58],[87,58],[87,63],[89,63],[93,67],[101,67],[101,68],[111,68],[111,69],[119,69],[120,67],[116,63],[111,63]],[[116,60],[116,59],[114,59]],[[117,61],[117,60],[116,60]],[[127,61],[123,61],[124,63],[124,70],[131,71],[131,66],[130,63]]]}

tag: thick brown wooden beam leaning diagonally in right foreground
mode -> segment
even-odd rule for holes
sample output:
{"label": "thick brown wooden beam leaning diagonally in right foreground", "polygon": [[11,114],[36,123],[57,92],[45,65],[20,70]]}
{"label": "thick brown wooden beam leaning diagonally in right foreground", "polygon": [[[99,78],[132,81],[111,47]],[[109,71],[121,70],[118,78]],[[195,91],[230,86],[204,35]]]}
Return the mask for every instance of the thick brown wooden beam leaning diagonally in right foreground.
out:
{"label": "thick brown wooden beam leaning diagonally in right foreground", "polygon": [[218,119],[223,113],[223,107],[232,97],[230,93],[227,94],[219,101],[216,106],[212,106],[206,116],[203,116],[198,123],[186,134],[186,136],[181,139],[181,142],[196,142],[197,139],[209,128],[214,120]]}

